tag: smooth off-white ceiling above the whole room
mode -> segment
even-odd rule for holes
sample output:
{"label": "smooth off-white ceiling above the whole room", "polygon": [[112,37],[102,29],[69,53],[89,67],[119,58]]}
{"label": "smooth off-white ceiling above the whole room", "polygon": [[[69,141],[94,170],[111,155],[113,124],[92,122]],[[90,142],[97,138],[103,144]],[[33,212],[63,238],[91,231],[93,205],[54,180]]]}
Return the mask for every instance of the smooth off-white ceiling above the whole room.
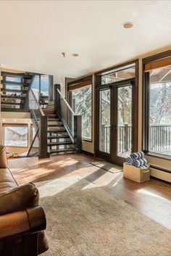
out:
{"label": "smooth off-white ceiling above the whole room", "polygon": [[0,1],[0,25],[1,66],[76,78],[170,46],[171,1]]}

